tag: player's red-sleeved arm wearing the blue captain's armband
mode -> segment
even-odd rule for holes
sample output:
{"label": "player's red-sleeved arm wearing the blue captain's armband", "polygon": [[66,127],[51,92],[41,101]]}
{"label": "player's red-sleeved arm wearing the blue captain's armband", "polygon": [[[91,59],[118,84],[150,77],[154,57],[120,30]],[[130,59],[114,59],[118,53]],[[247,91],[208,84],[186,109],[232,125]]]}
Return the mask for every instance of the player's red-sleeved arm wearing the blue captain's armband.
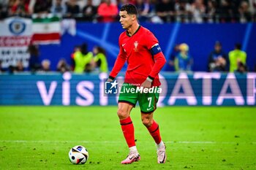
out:
{"label": "player's red-sleeved arm wearing the blue captain's armband", "polygon": [[148,50],[151,51],[151,54],[154,58],[154,66],[148,74],[148,77],[145,82],[143,82],[142,86],[144,88],[151,88],[151,82],[153,82],[154,77],[157,77],[159,72],[161,71],[162,67],[166,63],[165,55],[162,53],[162,50],[159,46],[157,38],[151,33],[147,37],[147,43],[146,46]]}

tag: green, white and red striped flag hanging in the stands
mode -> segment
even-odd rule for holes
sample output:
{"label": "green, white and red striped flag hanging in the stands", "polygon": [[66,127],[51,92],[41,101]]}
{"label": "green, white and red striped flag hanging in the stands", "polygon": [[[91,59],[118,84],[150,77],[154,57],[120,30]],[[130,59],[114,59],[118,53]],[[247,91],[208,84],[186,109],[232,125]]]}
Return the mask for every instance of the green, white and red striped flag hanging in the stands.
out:
{"label": "green, white and red striped flag hanging in the stands", "polygon": [[41,45],[60,43],[61,22],[59,17],[53,15],[34,15],[32,19],[32,43]]}

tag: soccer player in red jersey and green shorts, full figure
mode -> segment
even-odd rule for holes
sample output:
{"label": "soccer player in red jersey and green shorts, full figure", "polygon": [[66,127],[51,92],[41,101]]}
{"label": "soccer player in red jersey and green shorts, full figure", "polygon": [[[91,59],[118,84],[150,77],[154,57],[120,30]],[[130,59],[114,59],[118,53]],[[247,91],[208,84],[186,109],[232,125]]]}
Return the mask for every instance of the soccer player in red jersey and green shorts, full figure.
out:
{"label": "soccer player in red jersey and green shorts, full figure", "polygon": [[[121,26],[126,31],[119,36],[120,52],[108,81],[111,82],[115,79],[127,61],[128,67],[122,91],[125,92],[132,88],[159,88],[161,83],[158,74],[166,61],[157,38],[151,31],[139,25],[138,11],[134,5],[125,4],[121,7],[119,15]],[[132,93],[132,90],[130,93],[119,93],[117,114],[129,147],[129,155],[124,161],[121,161],[122,164],[140,160],[135,145],[135,129],[129,116],[137,101],[140,105],[141,120],[157,144],[157,162],[165,163],[165,144],[160,136],[159,125],[153,119],[158,98],[159,93],[155,90],[153,93]]]}

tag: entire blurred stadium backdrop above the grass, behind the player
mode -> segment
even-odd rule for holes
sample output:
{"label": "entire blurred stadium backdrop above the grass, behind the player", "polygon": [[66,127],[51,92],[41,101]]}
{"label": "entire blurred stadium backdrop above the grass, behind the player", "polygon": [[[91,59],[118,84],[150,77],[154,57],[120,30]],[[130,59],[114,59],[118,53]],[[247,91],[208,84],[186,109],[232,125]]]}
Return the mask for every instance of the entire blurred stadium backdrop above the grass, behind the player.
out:
{"label": "entire blurred stadium backdrop above the grass, behind the player", "polygon": [[118,8],[127,2],[167,60],[160,105],[255,105],[255,1],[228,0],[1,1],[0,104],[115,105],[102,97],[102,83],[118,55]]}

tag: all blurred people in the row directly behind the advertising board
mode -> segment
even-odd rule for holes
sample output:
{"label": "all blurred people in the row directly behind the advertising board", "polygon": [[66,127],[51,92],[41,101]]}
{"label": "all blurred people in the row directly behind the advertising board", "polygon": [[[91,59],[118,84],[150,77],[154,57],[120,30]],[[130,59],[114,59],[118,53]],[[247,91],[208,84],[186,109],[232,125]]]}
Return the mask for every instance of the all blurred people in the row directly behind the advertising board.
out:
{"label": "all blurred people in the row directly behind the advertising board", "polygon": [[[1,68],[0,73],[9,72],[74,72],[75,74],[83,73],[108,73],[108,60],[105,49],[95,46],[90,52],[87,44],[77,45],[74,47],[70,55],[69,64],[64,58],[60,58],[55,70],[50,69],[50,60],[40,60],[39,47],[37,45],[29,45],[27,53],[29,53],[29,68],[24,69],[23,63],[18,61],[16,66],[10,66],[8,69]],[[222,50],[221,42],[215,42],[213,50],[208,55],[207,70],[208,72],[237,72],[245,73],[249,71],[246,64],[246,52],[241,50],[241,44],[235,44],[234,49],[226,53]],[[168,66],[174,72],[193,72],[193,58],[189,53],[189,45],[181,43],[173,48],[173,53],[168,60]],[[256,72],[255,68],[250,69]]]}

